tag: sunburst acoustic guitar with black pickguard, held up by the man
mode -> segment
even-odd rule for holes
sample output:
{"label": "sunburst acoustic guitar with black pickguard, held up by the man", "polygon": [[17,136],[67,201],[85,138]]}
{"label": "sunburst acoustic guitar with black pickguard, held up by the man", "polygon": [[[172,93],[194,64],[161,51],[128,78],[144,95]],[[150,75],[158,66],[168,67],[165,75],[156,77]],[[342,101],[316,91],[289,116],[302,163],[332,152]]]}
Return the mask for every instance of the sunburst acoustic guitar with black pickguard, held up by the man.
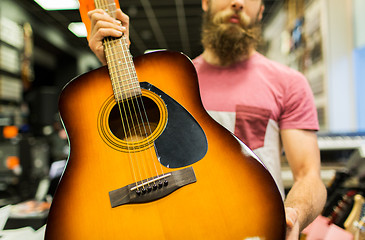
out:
{"label": "sunburst acoustic guitar with black pickguard, held up by the man", "polygon": [[[115,3],[95,1],[115,16]],[[182,53],[133,59],[104,40],[108,66],[59,98],[70,154],[45,239],[285,239],[279,190],[260,160],[210,118]]]}

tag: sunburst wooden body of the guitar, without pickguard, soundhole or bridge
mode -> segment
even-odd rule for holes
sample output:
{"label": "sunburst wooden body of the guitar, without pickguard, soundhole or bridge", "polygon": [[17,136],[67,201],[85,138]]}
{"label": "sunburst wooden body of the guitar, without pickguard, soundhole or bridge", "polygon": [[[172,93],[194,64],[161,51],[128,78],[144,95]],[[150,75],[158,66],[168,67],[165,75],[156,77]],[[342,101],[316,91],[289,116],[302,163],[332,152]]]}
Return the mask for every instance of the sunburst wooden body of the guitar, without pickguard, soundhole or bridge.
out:
{"label": "sunburst wooden body of the guitar, without pickguard, soundhole or bridge", "polygon": [[[108,193],[134,178],[130,154],[111,148],[98,130],[100,109],[113,90],[107,69],[94,70],[70,82],[60,96],[71,151],[46,239],[284,239],[283,202],[274,180],[206,113],[191,62],[180,53],[155,52],[134,63],[140,82],[172,97],[204,130],[208,150],[191,165],[196,182],[155,201],[111,207]],[[153,162],[159,165],[157,156]]]}

